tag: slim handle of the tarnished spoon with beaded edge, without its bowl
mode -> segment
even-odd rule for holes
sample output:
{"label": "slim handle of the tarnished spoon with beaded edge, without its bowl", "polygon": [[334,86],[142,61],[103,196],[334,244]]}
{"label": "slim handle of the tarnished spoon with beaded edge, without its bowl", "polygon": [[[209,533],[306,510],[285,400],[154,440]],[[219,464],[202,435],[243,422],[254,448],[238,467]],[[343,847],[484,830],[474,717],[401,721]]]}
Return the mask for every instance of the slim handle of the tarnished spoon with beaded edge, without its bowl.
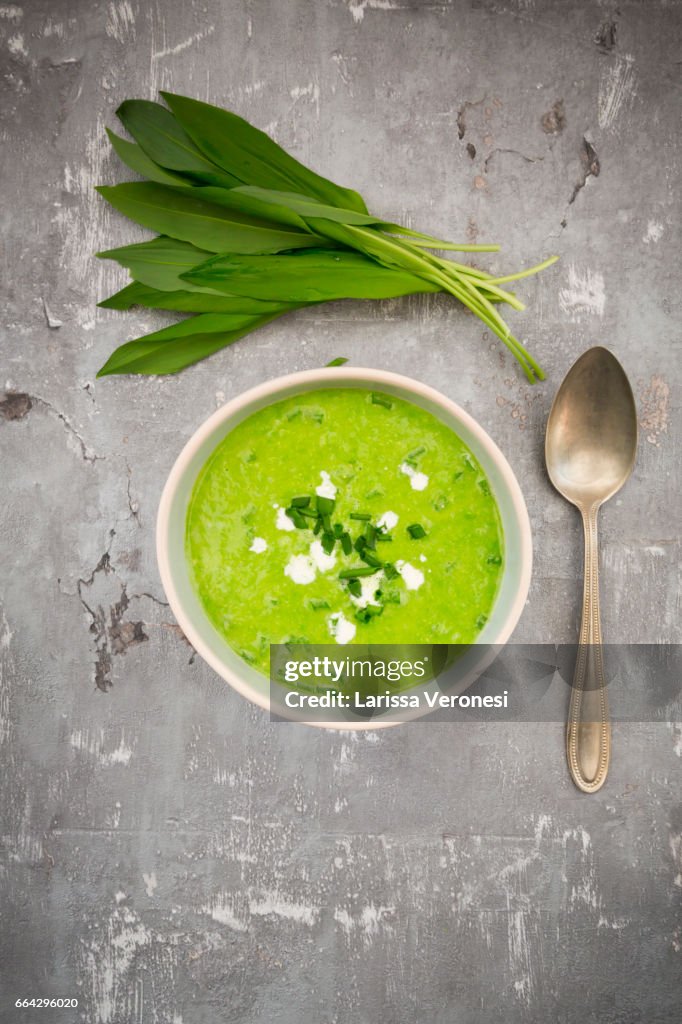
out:
{"label": "slim handle of the tarnished spoon with beaded edge, without its bowl", "polygon": [[583,618],[570,691],[566,757],[578,788],[583,793],[596,793],[604,784],[611,753],[599,616],[599,504],[581,511],[585,529]]}

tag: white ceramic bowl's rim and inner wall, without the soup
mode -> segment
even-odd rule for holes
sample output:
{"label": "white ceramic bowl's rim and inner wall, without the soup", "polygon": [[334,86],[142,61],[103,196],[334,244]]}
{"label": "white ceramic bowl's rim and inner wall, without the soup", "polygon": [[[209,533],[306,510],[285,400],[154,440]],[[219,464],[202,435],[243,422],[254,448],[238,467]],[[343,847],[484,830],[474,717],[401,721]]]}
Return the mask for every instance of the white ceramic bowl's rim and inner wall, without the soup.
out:
{"label": "white ceramic bowl's rim and inner wall, without the soup", "polygon": [[[230,686],[266,711],[270,707],[269,680],[232,650],[212,626],[193,588],[184,551],[187,503],[204,463],[239,423],[281,398],[334,387],[380,389],[428,410],[459,434],[480,463],[500,509],[505,536],[505,563],[495,605],[477,638],[477,644],[495,651],[507,642],[521,615],[530,584],[530,524],[518,481],[502,452],[482,427],[450,398],[409,377],[355,367],[305,370],[259,384],[232,398],[209,417],[182,449],[161,497],[157,519],[157,557],[166,596],[189,643]],[[485,664],[489,664],[493,656],[486,657]],[[469,685],[483,667],[479,664],[477,671],[462,678],[457,690]],[[343,725],[338,722],[314,724],[332,728],[376,729],[395,722],[370,720]]]}

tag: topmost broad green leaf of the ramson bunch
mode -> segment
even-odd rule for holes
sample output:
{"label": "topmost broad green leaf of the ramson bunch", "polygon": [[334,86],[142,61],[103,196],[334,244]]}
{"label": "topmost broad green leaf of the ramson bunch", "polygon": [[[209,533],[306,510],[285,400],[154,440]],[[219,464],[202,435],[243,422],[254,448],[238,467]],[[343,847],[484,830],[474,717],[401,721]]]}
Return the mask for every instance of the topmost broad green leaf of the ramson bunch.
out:
{"label": "topmost broad green leaf of the ramson bunch", "polygon": [[367,213],[356,191],[342,188],[304,167],[237,114],[188,96],[171,92],[161,95],[202,153],[239,178],[240,183],[302,193],[332,206]]}

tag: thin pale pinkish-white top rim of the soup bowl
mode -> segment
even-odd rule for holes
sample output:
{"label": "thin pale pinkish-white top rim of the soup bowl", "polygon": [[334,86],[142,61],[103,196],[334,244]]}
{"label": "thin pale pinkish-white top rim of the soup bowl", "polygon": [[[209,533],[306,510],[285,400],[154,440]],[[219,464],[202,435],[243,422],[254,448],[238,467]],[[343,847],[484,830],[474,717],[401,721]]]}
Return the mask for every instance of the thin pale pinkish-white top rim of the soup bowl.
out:
{"label": "thin pale pinkish-white top rim of the soup bowl", "polygon": [[[204,644],[201,635],[195,630],[189,616],[185,614],[182,601],[173,582],[173,575],[170,567],[169,526],[171,509],[178,485],[182,480],[190,461],[204,442],[226,420],[231,419],[238,413],[243,412],[255,402],[261,401],[263,398],[274,398],[274,396],[276,396],[276,394],[284,389],[290,389],[298,385],[301,387],[309,387],[309,385],[315,384],[324,386],[329,382],[335,382],[338,384],[339,381],[344,380],[370,385],[383,384],[393,386],[402,391],[419,395],[427,401],[432,402],[447,412],[450,416],[463,423],[476,437],[476,440],[481,447],[485,450],[492,461],[495,462],[496,467],[503,478],[507,493],[511,498],[520,532],[519,585],[514,601],[508,609],[505,621],[501,629],[498,631],[498,635],[495,637],[494,641],[492,641],[495,648],[499,649],[509,640],[521,617],[530,587],[530,575],[532,570],[532,536],[530,531],[528,511],[519,482],[516,479],[516,475],[514,474],[514,471],[509,465],[506,457],[503,455],[502,451],[498,447],[489,434],[483,429],[483,427],[481,427],[477,420],[467,413],[466,410],[462,409],[461,406],[453,401],[452,398],[449,398],[446,395],[442,394],[442,392],[431,387],[429,384],[424,384],[422,381],[415,380],[412,377],[407,377],[403,374],[396,374],[388,370],[377,370],[368,367],[321,367],[314,370],[301,370],[291,374],[284,374],[281,377],[263,381],[261,384],[255,385],[255,387],[242,391],[240,394],[226,401],[224,406],[221,406],[220,409],[216,410],[215,413],[212,413],[211,416],[209,416],[208,419],[197,428],[182,447],[180,454],[173,463],[170,473],[168,474],[161,495],[161,500],[159,502],[156,527],[156,550],[161,583],[168,599],[170,609],[175,615],[178,626],[191,646],[195,648],[197,653],[201,655],[203,660],[206,662],[218,676],[228,683],[232,689],[237,690],[237,692],[243,697],[246,697],[247,700],[257,705],[266,712],[270,711],[270,702],[267,694],[260,693],[258,690],[253,688],[250,683],[240,677],[239,673],[232,671],[229,666],[225,665],[219,657],[214,655],[214,653]],[[355,730],[368,728],[377,729],[382,726],[388,727],[398,723],[388,721],[384,723],[348,722],[343,724],[312,722],[310,724],[318,725],[323,728],[331,727],[336,729]]]}

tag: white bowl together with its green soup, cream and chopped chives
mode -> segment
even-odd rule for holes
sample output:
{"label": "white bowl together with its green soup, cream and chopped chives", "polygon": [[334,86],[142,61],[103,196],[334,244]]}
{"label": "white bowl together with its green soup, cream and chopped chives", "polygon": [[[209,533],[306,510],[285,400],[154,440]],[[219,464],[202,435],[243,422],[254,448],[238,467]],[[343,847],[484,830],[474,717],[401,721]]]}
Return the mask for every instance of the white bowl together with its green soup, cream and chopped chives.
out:
{"label": "white bowl together with its green soup, cream and chopped chives", "polygon": [[504,644],[531,540],[516,477],[471,416],[343,367],[261,384],[197,430],[157,554],[189,643],[267,710],[271,644]]}

